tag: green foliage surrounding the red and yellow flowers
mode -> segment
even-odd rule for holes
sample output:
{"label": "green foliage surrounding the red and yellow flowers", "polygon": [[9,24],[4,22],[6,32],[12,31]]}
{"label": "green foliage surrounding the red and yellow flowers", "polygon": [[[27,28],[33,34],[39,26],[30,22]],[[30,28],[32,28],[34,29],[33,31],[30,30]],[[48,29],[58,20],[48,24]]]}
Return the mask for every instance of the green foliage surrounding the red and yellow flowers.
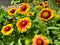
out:
{"label": "green foliage surrounding the red and yellow flowers", "polygon": [[[46,0],[38,0],[39,2],[41,1],[46,1]],[[57,8],[57,4],[54,3],[52,0],[49,1],[49,6],[50,8],[56,10],[56,14],[60,14],[59,7]],[[11,4],[17,4],[17,3],[23,3],[26,2],[26,0],[12,0]],[[32,5],[31,5],[31,3]],[[36,34],[41,34],[45,35],[48,37],[50,40],[49,45],[60,45],[60,19],[57,20],[57,18],[53,18],[50,21],[41,21],[39,20],[39,12],[40,12],[40,7],[36,9],[36,6],[33,4],[33,0],[28,0],[28,3],[31,5],[30,11],[35,12],[34,16],[26,16],[26,14],[21,15],[21,14],[16,14],[16,16],[11,17],[8,15],[7,11],[3,10],[2,7],[0,7],[0,30],[2,27],[6,24],[13,24],[14,26],[14,32],[11,35],[4,36],[0,32],[0,45],[32,45],[32,39],[34,35]],[[51,3],[53,7],[51,7]],[[33,8],[32,8],[33,7]],[[57,9],[56,9],[57,8]],[[17,30],[16,23],[17,20],[20,18],[28,17],[31,19],[32,22],[32,27],[28,29],[27,32],[21,33]],[[11,21],[10,18],[14,18],[14,21]],[[5,23],[6,22],[6,23]]]}

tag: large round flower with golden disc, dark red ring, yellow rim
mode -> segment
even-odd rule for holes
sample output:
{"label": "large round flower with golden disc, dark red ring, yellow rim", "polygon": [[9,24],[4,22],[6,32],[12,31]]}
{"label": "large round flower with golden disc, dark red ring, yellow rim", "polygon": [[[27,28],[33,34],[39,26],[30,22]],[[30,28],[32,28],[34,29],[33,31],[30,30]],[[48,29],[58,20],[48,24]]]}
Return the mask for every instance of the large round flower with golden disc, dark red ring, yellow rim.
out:
{"label": "large round flower with golden disc, dark red ring, yellow rim", "polygon": [[44,21],[48,21],[52,19],[53,16],[54,16],[54,11],[51,10],[50,8],[43,8],[39,14],[39,18]]}

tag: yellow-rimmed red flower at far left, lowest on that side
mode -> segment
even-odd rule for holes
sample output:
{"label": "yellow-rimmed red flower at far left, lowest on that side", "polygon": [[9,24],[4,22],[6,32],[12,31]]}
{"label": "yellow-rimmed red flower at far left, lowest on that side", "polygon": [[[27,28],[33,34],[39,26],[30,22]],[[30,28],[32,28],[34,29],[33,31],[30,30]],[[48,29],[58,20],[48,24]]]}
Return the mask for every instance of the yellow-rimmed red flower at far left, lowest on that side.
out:
{"label": "yellow-rimmed red flower at far left, lowest on that side", "polygon": [[8,24],[6,26],[4,26],[1,30],[1,33],[3,35],[9,35],[13,32],[14,28],[13,28],[13,25],[12,24]]}

